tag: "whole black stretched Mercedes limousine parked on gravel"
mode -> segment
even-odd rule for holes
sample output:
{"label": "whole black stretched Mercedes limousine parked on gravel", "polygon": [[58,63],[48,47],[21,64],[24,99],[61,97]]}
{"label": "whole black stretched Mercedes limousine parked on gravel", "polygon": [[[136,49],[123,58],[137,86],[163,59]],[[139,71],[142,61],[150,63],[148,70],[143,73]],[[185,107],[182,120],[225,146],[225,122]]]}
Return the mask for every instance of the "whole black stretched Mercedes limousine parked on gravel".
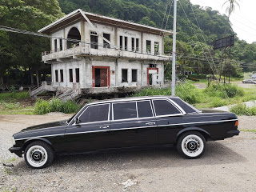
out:
{"label": "whole black stretched Mercedes limousine parked on gravel", "polygon": [[67,121],[30,126],[14,134],[9,150],[33,168],[49,166],[54,154],[170,144],[185,158],[199,158],[206,141],[238,134],[233,113],[197,110],[171,96],[122,98],[87,104]]}

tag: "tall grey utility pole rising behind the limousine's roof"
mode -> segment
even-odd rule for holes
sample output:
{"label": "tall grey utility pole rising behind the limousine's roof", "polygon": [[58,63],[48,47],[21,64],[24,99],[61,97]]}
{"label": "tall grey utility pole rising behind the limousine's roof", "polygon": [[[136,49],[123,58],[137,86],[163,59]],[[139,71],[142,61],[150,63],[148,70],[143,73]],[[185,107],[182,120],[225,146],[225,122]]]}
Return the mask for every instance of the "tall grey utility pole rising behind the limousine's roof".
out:
{"label": "tall grey utility pole rising behind the limousine's roof", "polygon": [[174,32],[173,32],[173,62],[171,74],[171,95],[175,96],[176,84],[176,20],[177,20],[177,0],[174,0]]}

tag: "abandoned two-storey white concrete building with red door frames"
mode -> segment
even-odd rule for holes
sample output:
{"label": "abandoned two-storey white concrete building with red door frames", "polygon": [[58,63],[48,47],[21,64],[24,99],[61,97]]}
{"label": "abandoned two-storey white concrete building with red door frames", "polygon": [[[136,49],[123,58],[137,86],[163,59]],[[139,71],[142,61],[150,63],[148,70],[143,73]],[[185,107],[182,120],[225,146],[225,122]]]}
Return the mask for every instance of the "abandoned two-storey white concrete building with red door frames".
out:
{"label": "abandoned two-storey white concrete building with red door frames", "polygon": [[47,89],[118,93],[164,84],[164,65],[171,59],[164,55],[164,37],[170,30],[79,9],[38,32],[51,36],[51,50],[42,53],[51,65],[51,82],[42,82],[34,94]]}

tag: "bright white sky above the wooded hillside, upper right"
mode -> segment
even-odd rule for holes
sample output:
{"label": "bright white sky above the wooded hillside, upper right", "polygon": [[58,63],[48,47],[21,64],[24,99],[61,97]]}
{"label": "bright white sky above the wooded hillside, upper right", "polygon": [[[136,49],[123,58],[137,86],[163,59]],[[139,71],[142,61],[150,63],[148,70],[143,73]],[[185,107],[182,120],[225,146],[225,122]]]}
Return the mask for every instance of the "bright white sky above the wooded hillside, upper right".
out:
{"label": "bright white sky above the wooded hillside, upper right", "polygon": [[[210,6],[221,14],[226,14],[227,0],[190,0],[194,5]],[[237,0],[240,8],[235,6],[230,16],[232,28],[239,39],[248,43],[256,42],[256,0]],[[227,15],[227,14],[226,14]]]}

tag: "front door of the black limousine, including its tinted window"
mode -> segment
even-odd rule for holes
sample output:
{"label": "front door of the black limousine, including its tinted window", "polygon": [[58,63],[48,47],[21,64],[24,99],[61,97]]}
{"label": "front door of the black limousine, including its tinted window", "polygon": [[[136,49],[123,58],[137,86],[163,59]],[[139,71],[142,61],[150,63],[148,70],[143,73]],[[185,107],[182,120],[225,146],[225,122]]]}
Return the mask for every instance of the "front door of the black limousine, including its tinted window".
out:
{"label": "front door of the black limousine, including its tinted window", "polygon": [[105,149],[110,146],[110,103],[86,107],[79,123],[66,128],[66,151],[83,152]]}

